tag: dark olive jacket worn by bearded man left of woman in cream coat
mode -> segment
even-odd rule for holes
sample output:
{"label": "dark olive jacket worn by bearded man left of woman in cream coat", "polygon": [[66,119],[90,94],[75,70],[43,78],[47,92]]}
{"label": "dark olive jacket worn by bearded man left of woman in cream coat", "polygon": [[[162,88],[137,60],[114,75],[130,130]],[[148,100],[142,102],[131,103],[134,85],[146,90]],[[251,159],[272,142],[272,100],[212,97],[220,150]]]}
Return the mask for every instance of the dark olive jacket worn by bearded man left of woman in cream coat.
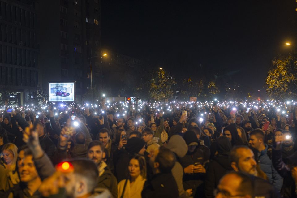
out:
{"label": "dark olive jacket worn by bearded man left of woman in cream coat", "polygon": [[114,197],[118,197],[118,182],[108,167],[99,177],[97,188],[107,188]]}

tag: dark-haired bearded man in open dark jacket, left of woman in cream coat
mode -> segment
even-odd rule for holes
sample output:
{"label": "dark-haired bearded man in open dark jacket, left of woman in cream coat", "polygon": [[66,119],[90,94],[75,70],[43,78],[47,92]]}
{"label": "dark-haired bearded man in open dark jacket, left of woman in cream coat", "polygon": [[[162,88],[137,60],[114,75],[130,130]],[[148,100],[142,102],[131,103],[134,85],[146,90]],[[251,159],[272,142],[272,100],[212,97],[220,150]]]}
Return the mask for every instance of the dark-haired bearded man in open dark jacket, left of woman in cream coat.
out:
{"label": "dark-haired bearded man in open dark jacket, left of woman in cream coat", "polygon": [[91,159],[97,165],[99,179],[97,187],[107,188],[114,197],[118,196],[117,179],[111,173],[107,164],[103,161],[105,158],[104,145],[102,142],[95,140],[89,144],[87,158]]}

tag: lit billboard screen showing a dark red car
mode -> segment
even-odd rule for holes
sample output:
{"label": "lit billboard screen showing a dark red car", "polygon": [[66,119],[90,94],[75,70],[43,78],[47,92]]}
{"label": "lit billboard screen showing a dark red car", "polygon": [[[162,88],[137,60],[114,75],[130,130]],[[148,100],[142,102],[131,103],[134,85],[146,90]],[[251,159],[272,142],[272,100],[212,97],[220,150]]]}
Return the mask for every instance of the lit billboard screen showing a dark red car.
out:
{"label": "lit billboard screen showing a dark red car", "polygon": [[49,83],[50,102],[74,102],[74,82]]}

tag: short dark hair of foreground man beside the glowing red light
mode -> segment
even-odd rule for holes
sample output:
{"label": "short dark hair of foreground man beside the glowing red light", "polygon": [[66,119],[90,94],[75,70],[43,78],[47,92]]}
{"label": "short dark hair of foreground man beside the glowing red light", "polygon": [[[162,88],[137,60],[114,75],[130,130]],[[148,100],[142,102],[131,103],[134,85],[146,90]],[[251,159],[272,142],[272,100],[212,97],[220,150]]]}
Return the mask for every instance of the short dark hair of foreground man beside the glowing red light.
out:
{"label": "short dark hair of foreground man beside the glowing red light", "polygon": [[99,176],[96,164],[92,160],[84,158],[71,159],[69,162],[74,168],[73,173],[86,179],[88,192],[93,192],[97,186]]}

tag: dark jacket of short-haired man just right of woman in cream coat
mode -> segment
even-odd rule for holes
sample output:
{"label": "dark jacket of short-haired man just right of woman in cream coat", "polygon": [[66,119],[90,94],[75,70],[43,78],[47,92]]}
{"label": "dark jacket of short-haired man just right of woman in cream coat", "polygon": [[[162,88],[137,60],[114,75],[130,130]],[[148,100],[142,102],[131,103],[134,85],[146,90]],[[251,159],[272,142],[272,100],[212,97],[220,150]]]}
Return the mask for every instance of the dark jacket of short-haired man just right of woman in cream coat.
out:
{"label": "dark jacket of short-haired man just right of woman in cream coat", "polygon": [[151,181],[144,183],[143,190],[141,192],[142,198],[177,198],[179,192],[177,185],[171,172],[155,174]]}

